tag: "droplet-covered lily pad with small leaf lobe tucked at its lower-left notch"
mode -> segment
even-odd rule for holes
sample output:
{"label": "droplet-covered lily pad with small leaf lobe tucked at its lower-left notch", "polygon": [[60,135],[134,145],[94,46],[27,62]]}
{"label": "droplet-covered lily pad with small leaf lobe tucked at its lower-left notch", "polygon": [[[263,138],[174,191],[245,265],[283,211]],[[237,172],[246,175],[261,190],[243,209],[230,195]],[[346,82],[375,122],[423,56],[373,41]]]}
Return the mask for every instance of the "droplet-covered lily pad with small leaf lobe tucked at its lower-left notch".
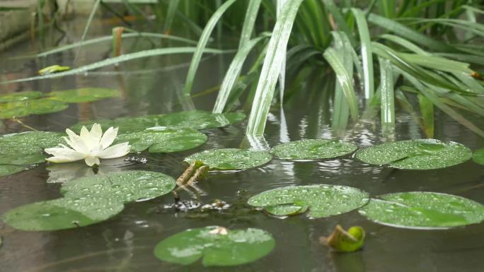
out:
{"label": "droplet-covered lily pad with small leaf lobe tucked at its lower-left notch", "polygon": [[357,188],[321,184],[264,191],[250,197],[247,203],[275,215],[293,215],[309,209],[309,217],[323,218],[353,211],[368,199],[368,193]]}

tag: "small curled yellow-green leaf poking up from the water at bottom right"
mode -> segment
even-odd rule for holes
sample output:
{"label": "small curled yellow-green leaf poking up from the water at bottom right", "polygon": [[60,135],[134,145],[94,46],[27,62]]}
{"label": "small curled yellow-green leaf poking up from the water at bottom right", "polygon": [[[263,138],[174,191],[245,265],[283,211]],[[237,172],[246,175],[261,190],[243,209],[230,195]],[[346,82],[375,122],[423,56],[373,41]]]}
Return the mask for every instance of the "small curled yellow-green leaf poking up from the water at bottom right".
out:
{"label": "small curled yellow-green leaf poking up from the water at bottom right", "polygon": [[336,252],[356,252],[363,247],[364,236],[363,227],[350,227],[346,231],[337,225],[330,237],[320,237],[319,240]]}

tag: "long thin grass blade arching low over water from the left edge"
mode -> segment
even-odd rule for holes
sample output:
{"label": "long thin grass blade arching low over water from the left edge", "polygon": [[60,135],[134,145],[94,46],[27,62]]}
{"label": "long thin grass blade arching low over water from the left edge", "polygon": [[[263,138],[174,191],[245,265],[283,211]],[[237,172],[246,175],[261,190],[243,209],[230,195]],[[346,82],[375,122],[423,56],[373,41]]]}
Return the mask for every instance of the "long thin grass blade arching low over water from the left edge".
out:
{"label": "long thin grass blade arching low over water from the left edge", "polygon": [[[189,54],[197,51],[196,47],[169,47],[169,48],[159,48],[159,49],[149,49],[149,50],[143,50],[131,54],[124,54],[120,57],[113,57],[110,59],[105,59],[103,61],[98,61],[93,64],[88,64],[85,66],[81,66],[78,68],[71,69],[69,71],[64,71],[60,73],[50,73],[45,76],[33,76],[31,78],[20,78],[16,79],[13,81],[3,81],[0,84],[7,84],[7,83],[16,83],[16,82],[23,82],[23,81],[36,81],[39,79],[45,79],[45,78],[59,78],[62,76],[70,76],[74,75],[76,73],[86,73],[87,71],[91,71],[94,69],[98,69],[101,67],[105,66],[110,66],[114,64],[119,64],[121,62],[125,61],[130,61],[132,59],[140,59],[140,58],[146,58],[146,57],[155,57],[155,56],[161,56],[161,55],[166,55],[166,54]],[[205,48],[204,52],[206,53],[212,53],[212,54],[223,54],[223,53],[229,53],[233,52],[231,50],[220,50],[220,49],[210,49],[210,48]]]}

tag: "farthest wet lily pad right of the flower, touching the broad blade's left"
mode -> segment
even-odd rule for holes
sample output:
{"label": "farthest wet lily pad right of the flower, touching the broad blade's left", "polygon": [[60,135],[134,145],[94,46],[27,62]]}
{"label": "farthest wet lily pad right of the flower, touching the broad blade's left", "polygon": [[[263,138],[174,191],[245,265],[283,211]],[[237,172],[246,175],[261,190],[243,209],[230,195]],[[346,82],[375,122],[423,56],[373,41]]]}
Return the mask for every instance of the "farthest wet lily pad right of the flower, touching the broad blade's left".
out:
{"label": "farthest wet lily pad right of the flower, touching the broad blade's left", "polygon": [[159,118],[158,124],[177,128],[211,129],[241,122],[243,119],[246,119],[246,114],[242,112],[212,113],[192,110],[165,114]]}

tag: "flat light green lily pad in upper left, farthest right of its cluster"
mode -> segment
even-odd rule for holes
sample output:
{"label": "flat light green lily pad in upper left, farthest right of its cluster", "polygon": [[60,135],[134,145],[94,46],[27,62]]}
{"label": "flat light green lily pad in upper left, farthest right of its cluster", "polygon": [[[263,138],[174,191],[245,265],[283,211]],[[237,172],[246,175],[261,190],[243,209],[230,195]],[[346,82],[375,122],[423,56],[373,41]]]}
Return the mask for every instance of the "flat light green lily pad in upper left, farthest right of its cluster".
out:
{"label": "flat light green lily pad in upper left, farthest right of its cluster", "polygon": [[119,90],[107,88],[79,88],[74,90],[57,90],[46,93],[50,99],[68,103],[91,102],[110,97],[119,97]]}

